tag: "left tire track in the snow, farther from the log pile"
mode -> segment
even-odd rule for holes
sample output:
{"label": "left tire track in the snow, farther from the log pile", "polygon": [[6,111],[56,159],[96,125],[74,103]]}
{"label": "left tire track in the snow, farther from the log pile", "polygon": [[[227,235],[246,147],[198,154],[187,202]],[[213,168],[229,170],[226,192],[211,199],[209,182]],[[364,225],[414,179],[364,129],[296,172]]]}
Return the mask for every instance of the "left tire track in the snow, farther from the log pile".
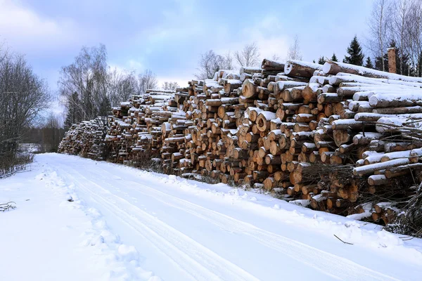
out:
{"label": "left tire track in the snow, farther from the log pile", "polygon": [[[70,174],[69,170],[75,173]],[[202,244],[151,216],[148,212],[139,209],[139,207],[130,204],[121,197],[113,195],[77,170],[66,166],[62,171],[63,173],[58,172],[60,176],[65,174],[65,178],[77,183],[75,189],[80,188],[89,194],[92,200],[113,212],[115,216],[120,218],[120,221],[136,230],[143,238],[150,241],[163,254],[172,259],[193,280],[258,280],[243,268],[223,259]],[[93,186],[103,190],[106,197],[92,191],[91,187]],[[117,202],[122,203],[126,208],[122,209],[117,206]],[[138,216],[134,217],[133,214],[138,214]]]}

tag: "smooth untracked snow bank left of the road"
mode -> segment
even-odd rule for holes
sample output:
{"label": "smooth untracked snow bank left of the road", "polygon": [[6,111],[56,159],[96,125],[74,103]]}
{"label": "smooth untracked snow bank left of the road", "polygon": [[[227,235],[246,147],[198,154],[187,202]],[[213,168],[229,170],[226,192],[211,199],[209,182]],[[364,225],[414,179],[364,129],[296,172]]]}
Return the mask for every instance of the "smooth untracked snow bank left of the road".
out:
{"label": "smooth untracked snow bank left of the road", "polygon": [[[18,209],[9,213],[12,221],[4,214],[0,221],[20,230],[17,240],[9,231],[0,232],[2,251],[6,244],[20,245],[0,256],[0,279],[161,280],[139,266],[139,252],[110,231],[101,212],[79,198],[72,181],[53,166],[32,168],[0,182],[0,201],[6,195],[18,202]],[[32,240],[36,244],[27,245]],[[23,268],[30,270],[28,277]]]}

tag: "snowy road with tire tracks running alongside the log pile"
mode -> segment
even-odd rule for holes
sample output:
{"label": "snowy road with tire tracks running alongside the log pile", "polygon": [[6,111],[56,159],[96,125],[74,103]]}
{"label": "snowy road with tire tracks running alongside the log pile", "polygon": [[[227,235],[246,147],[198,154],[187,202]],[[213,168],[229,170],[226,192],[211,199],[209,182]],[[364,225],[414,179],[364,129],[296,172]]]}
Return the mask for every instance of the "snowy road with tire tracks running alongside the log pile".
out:
{"label": "snowy road with tire tracks running alongside the log pile", "polygon": [[111,244],[106,253],[120,263],[110,264],[127,271],[112,280],[420,280],[421,240],[222,184],[67,155],[36,159],[10,181],[52,178],[65,189],[99,230],[89,243]]}

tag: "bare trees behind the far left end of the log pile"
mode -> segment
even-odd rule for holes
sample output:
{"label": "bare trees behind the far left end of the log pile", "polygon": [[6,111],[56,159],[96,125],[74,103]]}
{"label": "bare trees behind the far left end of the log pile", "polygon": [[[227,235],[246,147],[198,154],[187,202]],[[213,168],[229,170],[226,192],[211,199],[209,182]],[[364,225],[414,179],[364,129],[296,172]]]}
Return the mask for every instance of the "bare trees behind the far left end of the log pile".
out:
{"label": "bare trees behind the far left end of the log pile", "polygon": [[[162,88],[175,90],[177,82],[165,82]],[[158,88],[151,70],[141,74],[120,71],[108,64],[106,46],[83,47],[72,64],[60,69],[59,93],[65,100],[65,128],[82,120],[110,115],[110,108],[146,89]]]}

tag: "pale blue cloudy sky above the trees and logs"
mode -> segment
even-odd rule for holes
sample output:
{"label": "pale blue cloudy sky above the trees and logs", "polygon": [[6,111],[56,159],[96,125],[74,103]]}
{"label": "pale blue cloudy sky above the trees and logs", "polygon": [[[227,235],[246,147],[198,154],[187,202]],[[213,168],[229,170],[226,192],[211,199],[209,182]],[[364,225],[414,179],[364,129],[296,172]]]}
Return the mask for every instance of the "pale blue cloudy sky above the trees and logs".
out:
{"label": "pale blue cloudy sky above the trees and logs", "polygon": [[343,58],[364,41],[371,0],[324,1],[30,1],[0,0],[0,40],[25,53],[57,88],[58,70],[82,46],[105,44],[110,65],[151,69],[160,82],[193,78],[200,53],[236,51],[256,41],[261,58],[286,58],[298,34],[304,60]]}

